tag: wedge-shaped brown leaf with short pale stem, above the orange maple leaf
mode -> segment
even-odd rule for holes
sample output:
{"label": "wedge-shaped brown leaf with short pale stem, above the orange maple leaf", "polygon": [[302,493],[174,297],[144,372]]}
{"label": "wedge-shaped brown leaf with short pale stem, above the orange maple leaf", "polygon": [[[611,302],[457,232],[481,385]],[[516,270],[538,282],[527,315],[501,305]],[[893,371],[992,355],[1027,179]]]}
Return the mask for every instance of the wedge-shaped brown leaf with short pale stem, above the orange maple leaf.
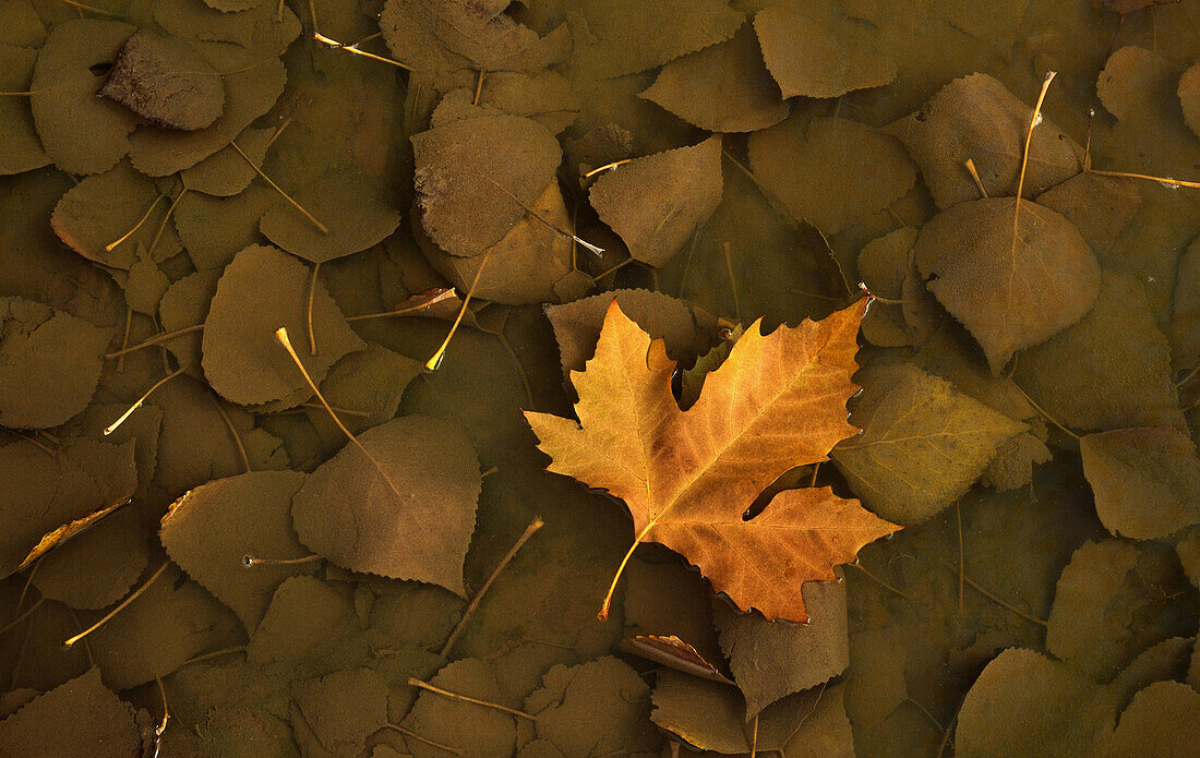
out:
{"label": "wedge-shaped brown leaf with short pale stem, above the orange maple leaf", "polygon": [[588,200],[630,254],[659,267],[679,252],[721,201],[721,138],[658,152],[596,180]]}

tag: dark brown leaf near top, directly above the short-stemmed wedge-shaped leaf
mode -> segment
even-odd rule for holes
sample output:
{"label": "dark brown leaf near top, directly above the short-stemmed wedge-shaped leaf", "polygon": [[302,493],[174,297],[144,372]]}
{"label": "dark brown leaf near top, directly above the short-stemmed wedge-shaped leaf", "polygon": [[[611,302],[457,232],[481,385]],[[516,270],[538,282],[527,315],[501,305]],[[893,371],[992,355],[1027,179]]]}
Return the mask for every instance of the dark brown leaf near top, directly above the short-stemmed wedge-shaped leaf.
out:
{"label": "dark brown leaf near top, directly above the short-stemmed wedge-shaped leaf", "polygon": [[727,42],[671,61],[638,97],[710,132],[754,132],[791,113],[749,24]]}

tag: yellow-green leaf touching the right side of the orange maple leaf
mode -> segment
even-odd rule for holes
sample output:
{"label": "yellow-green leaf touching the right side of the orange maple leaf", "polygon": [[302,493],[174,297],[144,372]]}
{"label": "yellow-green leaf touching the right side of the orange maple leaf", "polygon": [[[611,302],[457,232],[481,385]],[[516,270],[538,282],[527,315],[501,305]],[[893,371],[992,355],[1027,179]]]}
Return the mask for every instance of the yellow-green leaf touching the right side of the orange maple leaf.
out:
{"label": "yellow-green leaf touching the right side of the orange maple leaf", "polygon": [[947,507],[1025,425],[912,365],[869,368],[851,422],[863,432],[830,457],[876,513],[918,523]]}

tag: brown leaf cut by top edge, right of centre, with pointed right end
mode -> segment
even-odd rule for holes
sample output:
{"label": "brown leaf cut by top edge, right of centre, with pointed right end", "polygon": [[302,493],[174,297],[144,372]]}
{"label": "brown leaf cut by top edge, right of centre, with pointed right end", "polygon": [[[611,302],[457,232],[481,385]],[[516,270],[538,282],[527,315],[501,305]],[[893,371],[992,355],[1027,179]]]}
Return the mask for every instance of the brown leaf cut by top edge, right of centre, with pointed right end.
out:
{"label": "brown leaf cut by top edge, right of centre, with pointed right end", "polygon": [[895,78],[896,65],[880,49],[875,29],[834,8],[797,2],[755,14],[767,68],[784,97],[839,97]]}

